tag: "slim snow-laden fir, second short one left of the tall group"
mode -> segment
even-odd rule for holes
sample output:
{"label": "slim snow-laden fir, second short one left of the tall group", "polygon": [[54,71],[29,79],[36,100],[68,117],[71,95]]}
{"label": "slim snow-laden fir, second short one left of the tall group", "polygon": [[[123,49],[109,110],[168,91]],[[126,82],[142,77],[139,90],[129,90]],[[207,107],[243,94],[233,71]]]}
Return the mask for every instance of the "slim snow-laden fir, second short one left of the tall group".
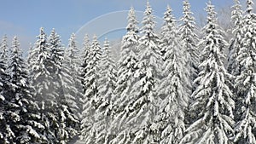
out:
{"label": "slim snow-laden fir, second short one left of the tall group", "polygon": [[96,109],[99,107],[99,62],[102,56],[102,49],[97,37],[93,37],[90,46],[90,59],[86,66],[87,72],[84,75],[84,104],[81,121],[80,139],[85,143],[96,142]]}

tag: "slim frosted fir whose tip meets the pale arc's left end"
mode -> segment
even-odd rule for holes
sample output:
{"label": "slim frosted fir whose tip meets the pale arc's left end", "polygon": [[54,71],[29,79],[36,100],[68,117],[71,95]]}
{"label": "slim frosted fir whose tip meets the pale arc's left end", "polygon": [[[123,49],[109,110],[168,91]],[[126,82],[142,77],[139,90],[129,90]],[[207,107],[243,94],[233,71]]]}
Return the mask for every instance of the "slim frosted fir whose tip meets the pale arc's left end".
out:
{"label": "slim frosted fir whose tip meets the pale arc's left end", "polygon": [[82,94],[79,90],[79,49],[75,40],[75,34],[72,34],[68,48],[64,54],[64,60],[61,66],[61,84],[63,96],[61,100],[60,122],[64,128],[60,136],[62,142],[73,139],[79,133],[79,99]]}

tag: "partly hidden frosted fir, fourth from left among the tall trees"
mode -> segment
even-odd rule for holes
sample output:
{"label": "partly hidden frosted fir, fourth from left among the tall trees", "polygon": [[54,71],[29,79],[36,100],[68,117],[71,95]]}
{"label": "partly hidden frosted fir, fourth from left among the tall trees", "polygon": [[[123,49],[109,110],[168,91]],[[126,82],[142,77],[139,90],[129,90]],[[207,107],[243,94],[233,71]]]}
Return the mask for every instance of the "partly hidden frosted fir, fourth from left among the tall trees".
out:
{"label": "partly hidden frosted fir, fourth from left among the tall trees", "polygon": [[187,76],[189,78],[189,95],[192,93],[190,88],[193,85],[193,81],[197,77],[199,65],[199,49],[197,46],[199,39],[195,32],[195,18],[192,14],[189,0],[184,0],[183,17],[181,18],[182,24],[179,26],[178,34],[180,34],[181,43],[183,44],[184,60],[187,64],[186,67],[189,69]]}

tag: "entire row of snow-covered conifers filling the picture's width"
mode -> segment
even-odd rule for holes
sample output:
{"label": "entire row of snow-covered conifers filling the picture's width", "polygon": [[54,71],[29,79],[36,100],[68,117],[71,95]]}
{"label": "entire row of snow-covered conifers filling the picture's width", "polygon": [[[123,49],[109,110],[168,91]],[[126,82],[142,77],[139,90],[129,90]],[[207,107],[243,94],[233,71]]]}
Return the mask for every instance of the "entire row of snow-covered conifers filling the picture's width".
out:
{"label": "entire row of snow-covered conifers filling the picture's width", "polygon": [[234,0],[230,38],[211,0],[202,28],[190,7],[160,32],[149,2],[140,23],[131,7],[119,60],[96,35],[64,47],[41,27],[27,56],[4,35],[0,144],[256,144],[253,0]]}

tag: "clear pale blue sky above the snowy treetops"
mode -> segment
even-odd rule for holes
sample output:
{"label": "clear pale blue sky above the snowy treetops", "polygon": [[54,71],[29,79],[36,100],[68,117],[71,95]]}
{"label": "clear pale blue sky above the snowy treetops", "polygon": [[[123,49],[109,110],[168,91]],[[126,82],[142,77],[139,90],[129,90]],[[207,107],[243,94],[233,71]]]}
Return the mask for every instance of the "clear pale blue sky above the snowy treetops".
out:
{"label": "clear pale blue sky above the snowy treetops", "polygon": [[[39,28],[44,27],[49,34],[52,28],[61,35],[63,44],[72,32],[78,32],[82,26],[91,23],[97,26],[108,27],[125,25],[126,21],[119,24],[119,20],[126,19],[126,11],[133,6],[137,11],[144,11],[146,0],[1,0],[0,5],[0,36],[7,34],[10,39],[17,35],[21,47],[27,49],[28,43],[34,43]],[[182,0],[149,0],[154,14],[161,18],[169,4],[173,14],[179,18],[182,14]],[[190,0],[195,17],[205,14],[204,8],[207,0]],[[232,0],[212,0],[216,8],[229,8]],[[104,22],[97,22],[103,14],[119,11],[119,18],[110,16]],[[115,17],[115,18],[114,18]],[[122,17],[122,18],[121,18]],[[94,22],[93,22],[94,21]],[[139,20],[140,21],[140,20]],[[97,25],[95,25],[97,23]],[[161,25],[161,24],[159,24]],[[87,25],[88,26],[88,25]],[[90,27],[87,29],[91,29]],[[108,29],[108,28],[107,28]],[[86,30],[84,30],[86,31]],[[97,34],[97,32],[96,32]],[[80,42],[79,42],[80,43]]]}

